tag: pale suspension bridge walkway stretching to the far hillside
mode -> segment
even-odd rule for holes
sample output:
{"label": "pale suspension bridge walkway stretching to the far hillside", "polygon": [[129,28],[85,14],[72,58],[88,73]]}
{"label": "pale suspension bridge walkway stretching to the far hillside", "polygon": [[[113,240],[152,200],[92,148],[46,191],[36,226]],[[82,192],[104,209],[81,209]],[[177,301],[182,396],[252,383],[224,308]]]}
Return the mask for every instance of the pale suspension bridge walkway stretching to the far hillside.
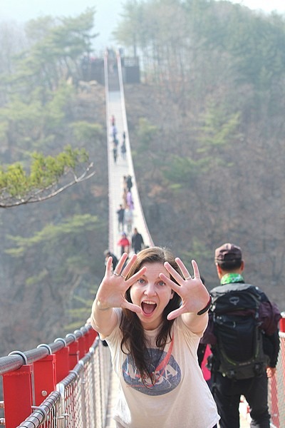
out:
{"label": "pale suspension bridge walkway stretching to the far hillside", "polygon": [[[131,190],[134,202],[133,225],[131,233],[125,227],[128,239],[131,241],[133,228],[137,228],[141,233],[145,245],[153,246],[150,232],[145,222],[138,186],[133,168],[133,159],[130,150],[130,139],[128,133],[128,121],[125,112],[125,98],[123,91],[123,75],[120,66],[120,57],[105,57],[105,102],[106,102],[106,126],[107,126],[107,148],[108,148],[108,188],[109,188],[109,249],[118,258],[120,257],[120,248],[118,240],[120,232],[118,230],[118,217],[116,211],[120,204],[123,203],[123,177],[130,175],[132,177],[133,188]],[[115,126],[118,134],[118,158],[113,158],[113,133],[111,118],[115,118]],[[125,132],[126,156],[123,158],[120,152],[120,146],[123,141],[123,132]],[[112,419],[113,406],[118,394],[118,380],[116,374],[110,373],[110,390],[108,401],[108,414],[106,419],[106,428],[115,428],[115,422]]]}

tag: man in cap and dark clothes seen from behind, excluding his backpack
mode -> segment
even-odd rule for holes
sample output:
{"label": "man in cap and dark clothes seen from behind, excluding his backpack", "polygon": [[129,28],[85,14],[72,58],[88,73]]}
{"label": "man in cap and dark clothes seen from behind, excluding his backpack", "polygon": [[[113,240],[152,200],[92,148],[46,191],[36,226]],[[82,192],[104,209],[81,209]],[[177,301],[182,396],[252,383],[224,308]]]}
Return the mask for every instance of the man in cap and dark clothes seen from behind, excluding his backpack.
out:
{"label": "man in cap and dark clothes seen from behind, excluding his backpack", "polygon": [[[244,260],[242,260],[242,250],[237,245],[225,243],[214,252],[214,262],[217,268],[217,275],[221,286],[244,283],[242,276],[244,270]],[[222,287],[215,287],[219,290]],[[214,290],[211,291],[214,292]],[[264,305],[263,313],[271,319],[271,327],[263,335],[264,354],[269,356],[269,367],[262,370],[261,375],[250,377],[249,379],[230,379],[222,372],[219,372],[219,360],[217,358],[217,338],[214,337],[214,306],[209,311],[209,325],[202,337],[202,343],[211,345],[213,352],[211,367],[212,394],[217,403],[220,428],[239,428],[239,402],[240,396],[244,395],[250,407],[252,417],[252,428],[269,428],[270,414],[267,405],[268,377],[274,375],[276,362],[279,353],[279,310],[276,305],[272,305],[264,292],[257,288],[261,296],[261,305]],[[211,294],[210,293],[210,294]],[[261,310],[261,305],[260,309]],[[267,311],[267,312],[266,312]],[[216,351],[215,351],[216,350]]]}

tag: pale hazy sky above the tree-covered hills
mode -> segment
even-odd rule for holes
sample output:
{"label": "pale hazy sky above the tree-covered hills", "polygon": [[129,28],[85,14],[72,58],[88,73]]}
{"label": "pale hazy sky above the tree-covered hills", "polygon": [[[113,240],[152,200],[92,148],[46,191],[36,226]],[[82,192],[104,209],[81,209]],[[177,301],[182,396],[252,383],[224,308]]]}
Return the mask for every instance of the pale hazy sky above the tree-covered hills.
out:
{"label": "pale hazy sky above the tree-covered hills", "polygon": [[[250,9],[265,12],[276,10],[285,14],[285,0],[232,0]],[[88,7],[95,7],[95,29],[100,35],[95,40],[95,49],[104,50],[112,44],[114,29],[125,0],[0,0],[0,21],[26,22],[41,15],[77,16]]]}

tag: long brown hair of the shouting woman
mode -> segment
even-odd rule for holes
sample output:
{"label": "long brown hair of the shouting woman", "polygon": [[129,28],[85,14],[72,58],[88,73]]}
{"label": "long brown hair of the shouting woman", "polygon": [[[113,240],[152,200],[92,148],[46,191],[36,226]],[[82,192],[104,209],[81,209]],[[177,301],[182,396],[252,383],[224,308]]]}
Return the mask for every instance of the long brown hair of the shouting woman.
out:
{"label": "long brown hair of the shouting woman", "polygon": [[[145,263],[161,263],[163,265],[165,262],[170,263],[170,265],[180,275],[182,275],[180,267],[175,262],[175,258],[170,250],[167,248],[152,247],[145,248],[145,250],[138,253],[138,258],[128,273],[127,278],[134,275],[135,272],[138,272]],[[175,281],[172,276],[170,277]],[[130,288],[125,293],[125,298],[128,302],[132,302],[130,298]],[[172,310],[180,307],[180,304],[180,296],[174,292],[172,299],[170,299],[162,313],[162,325],[156,338],[156,346],[161,350],[161,352],[164,350],[167,340],[172,340],[171,327],[174,320],[167,320],[167,315],[172,312]],[[122,352],[125,354],[130,353],[133,357],[135,367],[138,372],[140,372],[142,382],[145,386],[147,378],[150,378],[152,384],[155,384],[154,374],[150,372],[149,368],[151,359],[150,357],[147,358],[147,340],[138,315],[131,310],[123,309],[122,319],[120,321],[120,330],[123,333],[123,339],[120,344]],[[124,349],[126,351],[124,351]]]}

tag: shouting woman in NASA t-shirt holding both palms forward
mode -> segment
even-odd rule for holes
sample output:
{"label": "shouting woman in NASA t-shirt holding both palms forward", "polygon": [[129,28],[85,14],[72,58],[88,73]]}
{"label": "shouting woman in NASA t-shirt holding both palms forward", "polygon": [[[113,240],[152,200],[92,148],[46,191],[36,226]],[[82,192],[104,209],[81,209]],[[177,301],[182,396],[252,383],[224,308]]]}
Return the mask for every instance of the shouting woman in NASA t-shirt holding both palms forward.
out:
{"label": "shouting woman in NASA t-shirt holding both palms forward", "polygon": [[[213,428],[219,416],[197,362],[211,300],[169,250],[109,258],[91,324],[110,347],[120,379],[117,427]],[[125,265],[125,267],[124,267]]]}

